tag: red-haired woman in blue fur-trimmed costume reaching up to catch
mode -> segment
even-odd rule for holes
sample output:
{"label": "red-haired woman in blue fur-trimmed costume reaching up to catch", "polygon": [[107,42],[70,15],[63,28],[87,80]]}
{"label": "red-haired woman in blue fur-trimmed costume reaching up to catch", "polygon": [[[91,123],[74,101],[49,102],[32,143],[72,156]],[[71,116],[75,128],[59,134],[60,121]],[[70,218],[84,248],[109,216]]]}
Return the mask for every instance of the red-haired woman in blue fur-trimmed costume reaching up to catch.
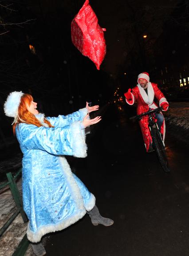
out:
{"label": "red-haired woman in blue fur-trimmed costume reaching up to catch", "polygon": [[45,117],[29,94],[14,91],[8,95],[4,112],[14,117],[13,132],[23,152],[22,190],[28,216],[28,240],[35,255],[44,255],[43,235],[67,228],[86,213],[92,224],[110,226],[113,221],[100,215],[95,197],[71,172],[64,155],[87,156],[85,128],[101,117],[89,118],[98,105],[88,106],[66,116]]}

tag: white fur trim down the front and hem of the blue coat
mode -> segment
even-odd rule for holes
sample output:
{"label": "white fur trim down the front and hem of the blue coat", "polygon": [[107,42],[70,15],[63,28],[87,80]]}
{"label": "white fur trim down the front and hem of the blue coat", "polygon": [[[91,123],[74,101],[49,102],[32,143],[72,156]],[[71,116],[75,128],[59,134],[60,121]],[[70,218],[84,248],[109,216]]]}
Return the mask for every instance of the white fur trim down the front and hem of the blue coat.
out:
{"label": "white fur trim down the front and hem of the blue coat", "polygon": [[74,224],[76,221],[79,221],[85,214],[86,211],[90,211],[95,206],[95,196],[91,193],[90,200],[87,204],[84,205],[82,195],[80,193],[79,186],[73,177],[73,173],[71,172],[71,168],[67,163],[65,157],[59,157],[59,163],[62,167],[64,177],[67,180],[67,183],[70,187],[70,192],[73,200],[75,201],[76,211],[73,213],[71,217],[64,219],[56,224],[47,224],[39,227],[36,232],[32,232],[30,229],[30,223],[28,224],[27,236],[28,240],[32,243],[37,243],[41,240],[41,237],[47,233],[60,231],[64,228],[67,228],[71,224]]}

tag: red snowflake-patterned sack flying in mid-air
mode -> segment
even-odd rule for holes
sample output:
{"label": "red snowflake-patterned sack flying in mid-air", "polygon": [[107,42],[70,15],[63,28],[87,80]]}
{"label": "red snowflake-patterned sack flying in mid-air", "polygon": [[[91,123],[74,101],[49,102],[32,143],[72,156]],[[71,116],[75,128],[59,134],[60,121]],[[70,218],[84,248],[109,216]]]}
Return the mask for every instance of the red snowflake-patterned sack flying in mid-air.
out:
{"label": "red snowflake-patterned sack flying in mid-air", "polygon": [[71,40],[75,47],[91,59],[97,69],[106,55],[105,28],[98,24],[98,18],[86,0],[83,7],[71,22]]}

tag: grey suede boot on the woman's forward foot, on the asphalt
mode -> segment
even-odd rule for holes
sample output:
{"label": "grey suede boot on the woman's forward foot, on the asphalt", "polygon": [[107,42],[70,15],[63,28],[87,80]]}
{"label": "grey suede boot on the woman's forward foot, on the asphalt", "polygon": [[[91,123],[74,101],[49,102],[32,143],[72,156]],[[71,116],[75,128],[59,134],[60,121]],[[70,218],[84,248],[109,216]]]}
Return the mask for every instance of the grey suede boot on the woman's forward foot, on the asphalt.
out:
{"label": "grey suede boot on the woman's forward foot, on the asphalt", "polygon": [[114,221],[108,218],[104,218],[100,215],[97,206],[90,211],[87,212],[89,214],[89,217],[91,218],[91,222],[94,226],[97,226],[98,224],[102,224],[104,226],[111,226],[113,225]]}

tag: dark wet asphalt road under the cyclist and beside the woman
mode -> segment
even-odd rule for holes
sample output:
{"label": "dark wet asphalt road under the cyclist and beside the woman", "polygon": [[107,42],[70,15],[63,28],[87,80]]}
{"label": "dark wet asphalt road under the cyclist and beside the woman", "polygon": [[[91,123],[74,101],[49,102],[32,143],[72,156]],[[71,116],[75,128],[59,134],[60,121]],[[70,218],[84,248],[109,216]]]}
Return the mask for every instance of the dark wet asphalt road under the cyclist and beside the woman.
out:
{"label": "dark wet asphalt road under the cyclist and beside the woman", "polygon": [[171,173],[164,173],[131,112],[110,106],[87,135],[88,157],[68,158],[114,225],[93,226],[86,215],[46,236],[47,256],[189,256],[189,146],[166,131]]}

